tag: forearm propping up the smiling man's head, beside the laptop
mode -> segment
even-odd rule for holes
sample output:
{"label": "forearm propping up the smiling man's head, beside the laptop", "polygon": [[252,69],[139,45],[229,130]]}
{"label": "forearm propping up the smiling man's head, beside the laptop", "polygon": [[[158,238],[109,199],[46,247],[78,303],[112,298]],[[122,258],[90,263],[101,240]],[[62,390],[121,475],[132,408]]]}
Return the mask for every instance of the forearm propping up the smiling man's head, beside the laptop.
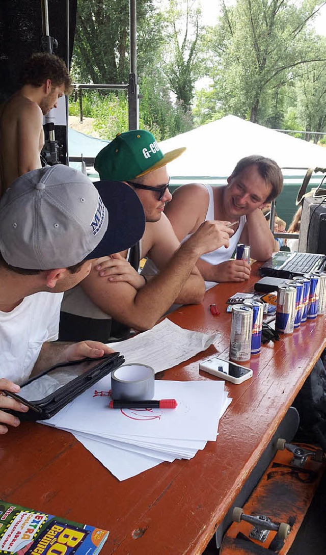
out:
{"label": "forearm propping up the smiling man's head, beside the laptop", "polygon": [[271,258],[273,252],[279,250],[278,242],[274,239],[260,208],[256,208],[246,217],[247,223],[244,225],[240,241],[250,245],[251,258],[265,262]]}

